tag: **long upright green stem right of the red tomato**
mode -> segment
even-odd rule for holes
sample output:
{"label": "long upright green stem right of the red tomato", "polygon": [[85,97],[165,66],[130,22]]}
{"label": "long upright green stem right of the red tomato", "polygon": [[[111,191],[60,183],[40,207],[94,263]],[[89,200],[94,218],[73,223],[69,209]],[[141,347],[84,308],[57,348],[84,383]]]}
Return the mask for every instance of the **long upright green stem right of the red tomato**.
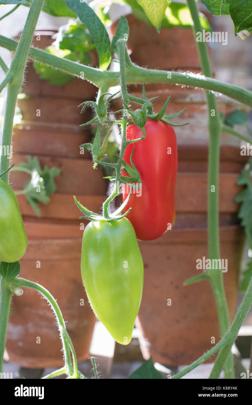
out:
{"label": "long upright green stem right of the red tomato", "polygon": [[[188,8],[193,20],[193,30],[196,37],[197,32],[203,35],[203,29],[199,19],[199,13],[195,0],[187,0]],[[205,42],[196,42],[199,58],[201,61],[202,72],[206,77],[212,77],[208,49]],[[208,127],[209,127],[209,152],[208,152],[208,251],[209,258],[220,258],[219,241],[219,158],[220,158],[220,133],[221,121],[218,114],[215,95],[212,92],[206,92],[208,102]],[[229,328],[229,310],[224,290],[223,275],[221,269],[208,270],[208,277],[214,290],[216,301],[220,333],[222,336]],[[225,377],[234,378],[233,356],[230,353],[225,365]]]}

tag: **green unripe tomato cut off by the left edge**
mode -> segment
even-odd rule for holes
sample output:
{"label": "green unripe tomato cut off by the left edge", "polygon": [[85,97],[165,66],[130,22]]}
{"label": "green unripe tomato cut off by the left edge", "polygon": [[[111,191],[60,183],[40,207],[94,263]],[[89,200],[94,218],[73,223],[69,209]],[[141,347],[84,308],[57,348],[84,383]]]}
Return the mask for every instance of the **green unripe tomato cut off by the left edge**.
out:
{"label": "green unripe tomato cut off by the left edge", "polygon": [[17,262],[27,249],[27,235],[12,188],[0,180],[0,260]]}

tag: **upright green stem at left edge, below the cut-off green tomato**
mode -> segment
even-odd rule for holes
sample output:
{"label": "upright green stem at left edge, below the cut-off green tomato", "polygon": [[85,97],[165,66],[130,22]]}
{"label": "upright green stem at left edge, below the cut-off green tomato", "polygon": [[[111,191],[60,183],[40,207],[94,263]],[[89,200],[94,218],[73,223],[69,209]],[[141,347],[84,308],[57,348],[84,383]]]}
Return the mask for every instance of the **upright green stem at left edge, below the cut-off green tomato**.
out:
{"label": "upright green stem at left edge, below the cut-off green tomato", "polygon": [[12,292],[5,284],[4,277],[0,280],[0,373],[2,372],[2,363],[4,358],[4,348],[6,341],[6,332],[10,312]]}

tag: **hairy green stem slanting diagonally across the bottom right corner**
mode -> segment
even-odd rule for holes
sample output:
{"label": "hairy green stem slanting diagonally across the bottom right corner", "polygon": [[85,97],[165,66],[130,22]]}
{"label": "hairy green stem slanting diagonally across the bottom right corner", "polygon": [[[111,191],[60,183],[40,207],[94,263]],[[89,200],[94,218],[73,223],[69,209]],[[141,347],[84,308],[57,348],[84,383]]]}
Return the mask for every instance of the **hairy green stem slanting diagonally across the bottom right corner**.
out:
{"label": "hairy green stem slanting diagonally across the bottom right corner", "polygon": [[[235,339],[237,337],[237,334],[239,332],[239,329],[241,325],[244,322],[244,319],[246,318],[246,315],[251,307],[252,304],[252,278],[250,279],[250,283],[248,285],[248,289],[243,297],[243,300],[241,301],[241,305],[239,306],[239,309],[235,315],[235,319],[233,321],[233,324],[227,331],[224,337],[214,346],[212,349],[208,350],[208,352],[204,353],[203,356],[199,357],[197,360],[195,360],[190,366],[186,367],[184,370],[180,371],[179,373],[175,374],[172,378],[178,379],[186,375],[187,373],[190,373],[193,369],[198,367],[200,364],[208,360],[213,354],[218,352],[220,350],[220,353],[218,354],[219,359],[217,362],[214,364],[214,367],[212,369],[212,373],[210,374],[210,378],[218,378],[219,372],[221,372],[224,362],[227,359],[227,355],[230,353],[230,348],[232,347],[233,343],[235,342]],[[224,351],[224,348],[227,346],[227,349]],[[224,351],[224,355],[223,355]],[[217,359],[218,359],[217,357]],[[216,359],[216,361],[217,361]],[[216,372],[218,370],[218,372]],[[215,377],[212,377],[215,375]]]}

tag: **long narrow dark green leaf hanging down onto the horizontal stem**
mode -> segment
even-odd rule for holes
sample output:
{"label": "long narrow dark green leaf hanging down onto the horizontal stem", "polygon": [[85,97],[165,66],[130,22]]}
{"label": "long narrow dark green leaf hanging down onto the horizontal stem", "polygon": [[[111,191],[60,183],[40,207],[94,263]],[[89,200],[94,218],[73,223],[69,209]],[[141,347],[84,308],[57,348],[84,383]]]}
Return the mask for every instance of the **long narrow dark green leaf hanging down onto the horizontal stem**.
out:
{"label": "long narrow dark green leaf hanging down onto the horizontal stem", "polygon": [[87,26],[99,55],[100,68],[106,70],[110,64],[111,50],[109,36],[102,21],[85,2],[66,0],[66,4],[78,15],[80,21]]}

